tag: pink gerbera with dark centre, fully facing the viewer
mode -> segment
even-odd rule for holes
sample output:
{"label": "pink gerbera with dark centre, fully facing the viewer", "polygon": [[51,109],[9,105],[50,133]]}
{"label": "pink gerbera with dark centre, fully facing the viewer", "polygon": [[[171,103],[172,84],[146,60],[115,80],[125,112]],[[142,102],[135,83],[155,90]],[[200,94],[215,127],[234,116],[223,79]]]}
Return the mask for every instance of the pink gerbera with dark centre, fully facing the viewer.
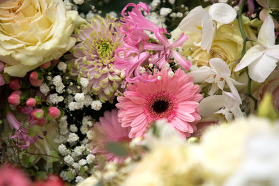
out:
{"label": "pink gerbera with dark centre, fully facing the viewer", "polygon": [[198,101],[202,99],[199,86],[180,69],[173,77],[165,68],[158,75],[161,79],[157,82],[128,84],[128,91],[118,98],[119,121],[122,127],[131,127],[130,138],[143,136],[151,123],[161,118],[183,137],[196,130]]}

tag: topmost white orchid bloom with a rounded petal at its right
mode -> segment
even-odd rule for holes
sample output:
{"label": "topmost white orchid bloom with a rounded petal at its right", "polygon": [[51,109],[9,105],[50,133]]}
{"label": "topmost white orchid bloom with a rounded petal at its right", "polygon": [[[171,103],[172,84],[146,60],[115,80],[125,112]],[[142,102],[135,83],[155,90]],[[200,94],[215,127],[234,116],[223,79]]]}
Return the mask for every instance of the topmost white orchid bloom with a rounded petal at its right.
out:
{"label": "topmost white orchid bloom with a rounded petal at its right", "polygon": [[227,3],[215,3],[209,8],[209,11],[204,10],[202,6],[197,6],[184,17],[179,24],[179,29],[190,33],[201,32],[202,40],[196,42],[195,45],[200,46],[203,50],[207,49],[209,52],[215,34],[216,22],[228,24],[233,22],[235,18],[236,10]]}

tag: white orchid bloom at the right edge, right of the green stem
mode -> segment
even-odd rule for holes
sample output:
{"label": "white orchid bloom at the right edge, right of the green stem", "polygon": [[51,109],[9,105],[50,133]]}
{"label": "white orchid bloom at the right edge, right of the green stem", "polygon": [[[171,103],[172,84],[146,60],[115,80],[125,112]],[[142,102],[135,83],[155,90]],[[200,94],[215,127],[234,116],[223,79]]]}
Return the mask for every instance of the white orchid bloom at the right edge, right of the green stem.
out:
{"label": "white orchid bloom at the right edge, right of the green stem", "polygon": [[257,41],[261,45],[255,45],[248,49],[234,71],[239,71],[248,66],[251,79],[259,83],[264,82],[279,61],[279,45],[275,45],[275,40],[274,22],[268,16],[257,36]]}

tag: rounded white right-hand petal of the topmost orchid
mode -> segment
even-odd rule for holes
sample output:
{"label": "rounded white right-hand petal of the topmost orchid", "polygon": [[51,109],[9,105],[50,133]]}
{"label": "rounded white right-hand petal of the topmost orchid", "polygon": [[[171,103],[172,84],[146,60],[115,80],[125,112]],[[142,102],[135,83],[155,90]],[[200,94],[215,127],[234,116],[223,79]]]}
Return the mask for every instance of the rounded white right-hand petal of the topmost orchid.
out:
{"label": "rounded white right-hand petal of the topmost orchid", "polygon": [[228,24],[236,18],[236,10],[227,3],[214,3],[209,8],[209,15],[217,22]]}

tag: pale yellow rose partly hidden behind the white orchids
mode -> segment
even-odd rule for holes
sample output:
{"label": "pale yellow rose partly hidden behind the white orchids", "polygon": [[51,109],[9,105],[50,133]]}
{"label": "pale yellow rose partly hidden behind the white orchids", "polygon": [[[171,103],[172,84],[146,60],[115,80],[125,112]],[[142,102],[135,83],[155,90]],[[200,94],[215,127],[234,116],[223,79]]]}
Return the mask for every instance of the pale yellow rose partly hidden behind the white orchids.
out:
{"label": "pale yellow rose partly hidden behind the white orchids", "polygon": [[[248,38],[257,39],[257,27],[261,22],[254,20],[250,22],[248,17],[243,16],[244,29]],[[254,28],[254,29],[252,29]],[[182,33],[179,28],[172,32],[173,38],[177,38]],[[243,47],[243,39],[239,30],[239,23],[237,20],[230,24],[216,25],[215,37],[213,39],[209,53],[201,47],[195,45],[202,40],[202,32],[185,32],[189,39],[183,45],[183,52],[181,54],[193,62],[193,65],[201,67],[209,65],[209,60],[212,58],[223,59],[227,64],[238,61],[241,57],[241,50]],[[246,49],[252,47],[252,42],[247,42]]]}

